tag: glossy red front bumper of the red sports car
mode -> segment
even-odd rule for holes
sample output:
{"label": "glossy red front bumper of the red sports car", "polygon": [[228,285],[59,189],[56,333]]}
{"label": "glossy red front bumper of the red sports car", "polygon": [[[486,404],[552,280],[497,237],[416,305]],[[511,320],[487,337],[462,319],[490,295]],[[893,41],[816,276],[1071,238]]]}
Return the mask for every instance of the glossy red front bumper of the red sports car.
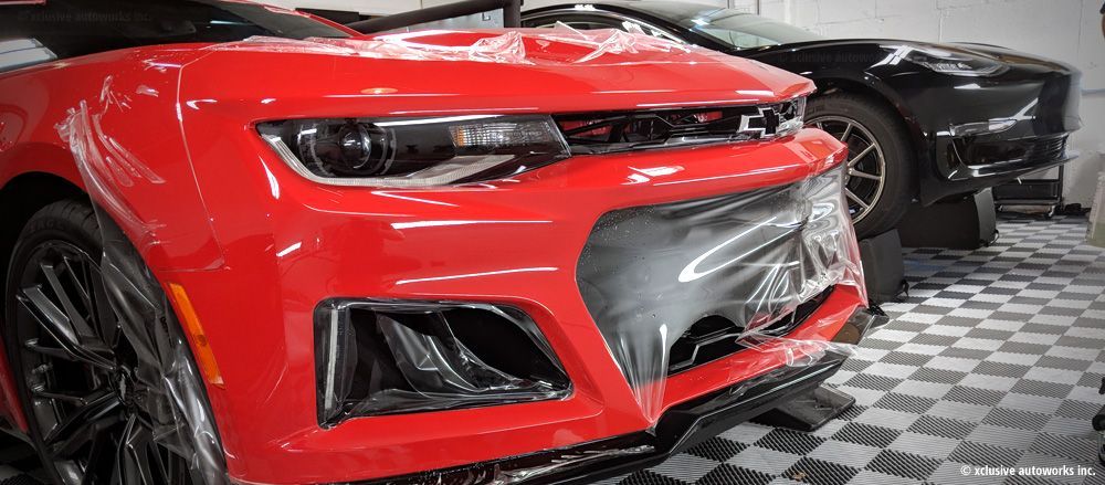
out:
{"label": "glossy red front bumper of the red sports car", "polygon": [[[260,484],[403,476],[652,428],[577,287],[596,221],[623,208],[792,183],[843,158],[827,134],[803,130],[771,143],[576,157],[474,187],[339,190],[299,178],[260,140],[249,148],[263,154],[262,164],[214,175],[236,183],[198,172],[209,211],[225,214],[212,219],[224,264],[158,277],[188,291],[217,355],[225,387],[209,396],[230,474]],[[241,147],[240,158],[246,152]],[[343,297],[516,307],[547,337],[572,393],[323,429],[314,310]],[[863,304],[861,291],[838,286],[790,337],[831,340]],[[667,378],[655,409],[669,412],[785,365],[756,349],[712,361]]]}

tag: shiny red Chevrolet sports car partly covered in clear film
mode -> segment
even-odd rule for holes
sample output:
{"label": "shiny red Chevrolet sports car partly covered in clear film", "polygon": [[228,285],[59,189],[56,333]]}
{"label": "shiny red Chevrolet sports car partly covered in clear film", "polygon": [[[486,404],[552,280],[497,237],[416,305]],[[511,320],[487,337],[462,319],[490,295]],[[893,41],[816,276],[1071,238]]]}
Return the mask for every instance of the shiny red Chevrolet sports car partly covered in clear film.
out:
{"label": "shiny red Chevrolet sports car partly covered in clear film", "polygon": [[355,35],[0,6],[0,408],[57,483],[594,479],[877,320],[808,80],[617,31]]}

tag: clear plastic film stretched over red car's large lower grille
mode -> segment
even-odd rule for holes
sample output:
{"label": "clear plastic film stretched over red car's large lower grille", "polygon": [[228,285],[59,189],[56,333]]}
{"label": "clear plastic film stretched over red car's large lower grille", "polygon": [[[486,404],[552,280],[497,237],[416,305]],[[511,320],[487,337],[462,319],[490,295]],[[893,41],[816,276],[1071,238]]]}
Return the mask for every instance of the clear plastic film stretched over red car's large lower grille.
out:
{"label": "clear plastic film stretched over red car's large lower grille", "polygon": [[833,287],[864,293],[842,170],[609,212],[588,239],[577,282],[652,420],[663,411],[665,377],[712,356],[751,351],[802,367],[829,350],[848,354],[840,344],[788,337],[818,325],[807,319]]}

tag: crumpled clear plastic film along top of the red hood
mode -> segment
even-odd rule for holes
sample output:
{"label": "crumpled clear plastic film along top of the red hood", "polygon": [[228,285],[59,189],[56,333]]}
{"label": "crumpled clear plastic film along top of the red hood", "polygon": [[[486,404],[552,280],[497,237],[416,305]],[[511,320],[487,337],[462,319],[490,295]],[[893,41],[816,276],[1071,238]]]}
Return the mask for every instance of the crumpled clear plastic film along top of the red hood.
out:
{"label": "crumpled clear plastic film along top of the red hood", "polygon": [[[379,35],[365,39],[305,40],[253,36],[240,42],[215,44],[213,51],[286,52],[299,54],[345,55],[370,59],[471,61],[502,64],[535,64],[530,50],[540,51],[557,42],[580,48],[573,63],[585,63],[604,54],[639,52],[691,52],[701,48],[678,44],[643,33],[629,33],[615,29],[579,31],[558,23],[554,29],[530,31],[511,30],[494,36],[475,33],[467,45],[440,45],[419,42],[445,31],[422,31]],[[523,34],[525,32],[525,34]]]}

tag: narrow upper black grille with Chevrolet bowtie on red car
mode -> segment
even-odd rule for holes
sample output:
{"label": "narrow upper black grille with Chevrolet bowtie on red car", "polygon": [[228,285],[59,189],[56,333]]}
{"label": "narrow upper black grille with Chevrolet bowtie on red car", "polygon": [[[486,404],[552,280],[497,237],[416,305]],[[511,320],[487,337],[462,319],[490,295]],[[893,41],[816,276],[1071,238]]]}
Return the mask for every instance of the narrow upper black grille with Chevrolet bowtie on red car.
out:
{"label": "narrow upper black grille with Chevrolet bowtie on red car", "polygon": [[608,154],[768,138],[801,127],[806,99],[760,106],[557,115],[571,152]]}

